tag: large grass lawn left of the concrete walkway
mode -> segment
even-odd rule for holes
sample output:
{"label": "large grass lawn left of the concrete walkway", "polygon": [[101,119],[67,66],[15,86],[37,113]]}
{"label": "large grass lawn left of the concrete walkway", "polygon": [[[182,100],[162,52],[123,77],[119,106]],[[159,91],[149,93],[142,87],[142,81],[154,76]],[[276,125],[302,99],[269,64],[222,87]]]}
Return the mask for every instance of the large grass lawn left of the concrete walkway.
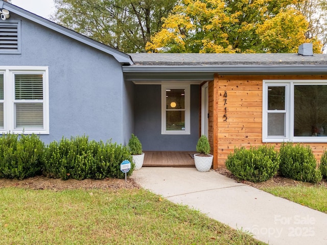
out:
{"label": "large grass lawn left of the concrete walkway", "polygon": [[1,244],[265,244],[144,189],[0,188]]}

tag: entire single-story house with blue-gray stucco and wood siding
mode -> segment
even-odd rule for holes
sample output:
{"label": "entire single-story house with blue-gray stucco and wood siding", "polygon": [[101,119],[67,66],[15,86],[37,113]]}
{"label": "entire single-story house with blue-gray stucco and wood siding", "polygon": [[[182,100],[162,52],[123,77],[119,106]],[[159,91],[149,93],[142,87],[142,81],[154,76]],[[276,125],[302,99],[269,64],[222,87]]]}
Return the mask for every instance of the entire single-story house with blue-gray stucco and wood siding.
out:
{"label": "entire single-story house with blue-gray stucco and wood siding", "polygon": [[[327,91],[327,55],[310,45],[298,54],[125,54],[0,0],[3,9],[0,133],[122,144],[134,133],[145,151],[195,151],[205,134],[214,168],[235,145],[308,142],[316,156],[326,149],[327,107],[294,102],[300,85],[302,97]],[[284,106],[274,108],[272,93]],[[310,111],[320,116],[297,119]]]}

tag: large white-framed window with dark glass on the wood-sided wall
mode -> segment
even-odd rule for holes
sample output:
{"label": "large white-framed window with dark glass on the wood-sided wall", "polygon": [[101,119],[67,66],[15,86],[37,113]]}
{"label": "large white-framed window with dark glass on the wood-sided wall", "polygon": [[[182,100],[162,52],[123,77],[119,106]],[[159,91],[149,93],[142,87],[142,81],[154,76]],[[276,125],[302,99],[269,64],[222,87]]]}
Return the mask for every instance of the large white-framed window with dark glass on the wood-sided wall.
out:
{"label": "large white-framed window with dark glass on the wood-sided wall", "polygon": [[327,80],[264,80],[264,142],[325,142]]}

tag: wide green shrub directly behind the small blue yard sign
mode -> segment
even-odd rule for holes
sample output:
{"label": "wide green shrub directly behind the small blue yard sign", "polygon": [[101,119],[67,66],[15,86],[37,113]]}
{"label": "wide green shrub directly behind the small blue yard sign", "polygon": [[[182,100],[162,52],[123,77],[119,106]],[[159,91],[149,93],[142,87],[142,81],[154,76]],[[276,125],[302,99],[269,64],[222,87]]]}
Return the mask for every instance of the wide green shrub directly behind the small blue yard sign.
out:
{"label": "wide green shrub directly behind the small blue yard sign", "polygon": [[53,178],[67,179],[104,179],[125,178],[120,170],[120,164],[129,160],[132,164],[128,172],[130,176],[134,169],[131,154],[126,146],[94,140],[87,136],[62,138],[53,141],[46,148],[44,174]]}

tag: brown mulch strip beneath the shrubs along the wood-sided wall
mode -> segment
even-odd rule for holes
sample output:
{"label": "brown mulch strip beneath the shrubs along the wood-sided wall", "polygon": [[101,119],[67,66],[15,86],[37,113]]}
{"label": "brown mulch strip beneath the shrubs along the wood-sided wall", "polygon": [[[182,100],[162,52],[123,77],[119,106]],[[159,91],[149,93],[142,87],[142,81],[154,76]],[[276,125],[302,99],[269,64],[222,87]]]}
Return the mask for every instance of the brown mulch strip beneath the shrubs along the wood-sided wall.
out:
{"label": "brown mulch strip beneath the shrubs along the wood-sided wall", "polygon": [[[272,187],[272,186],[297,186],[299,184],[301,185],[306,185],[306,186],[314,186],[315,184],[312,183],[308,183],[308,182],[302,182],[302,181],[296,181],[296,180],[292,180],[292,179],[288,179],[288,178],[284,178],[281,176],[275,176],[265,182],[259,182],[259,183],[253,183],[250,181],[246,181],[246,180],[240,180],[238,179],[236,176],[234,176],[232,173],[230,173],[230,171],[226,168],[219,168],[216,170],[217,173],[224,175],[228,178],[234,179],[235,181],[239,182],[239,183],[244,183],[250,186],[253,186],[255,188],[265,188],[265,187]],[[321,185],[327,188],[327,182],[326,180],[322,180],[320,183],[316,184],[316,185]]]}

